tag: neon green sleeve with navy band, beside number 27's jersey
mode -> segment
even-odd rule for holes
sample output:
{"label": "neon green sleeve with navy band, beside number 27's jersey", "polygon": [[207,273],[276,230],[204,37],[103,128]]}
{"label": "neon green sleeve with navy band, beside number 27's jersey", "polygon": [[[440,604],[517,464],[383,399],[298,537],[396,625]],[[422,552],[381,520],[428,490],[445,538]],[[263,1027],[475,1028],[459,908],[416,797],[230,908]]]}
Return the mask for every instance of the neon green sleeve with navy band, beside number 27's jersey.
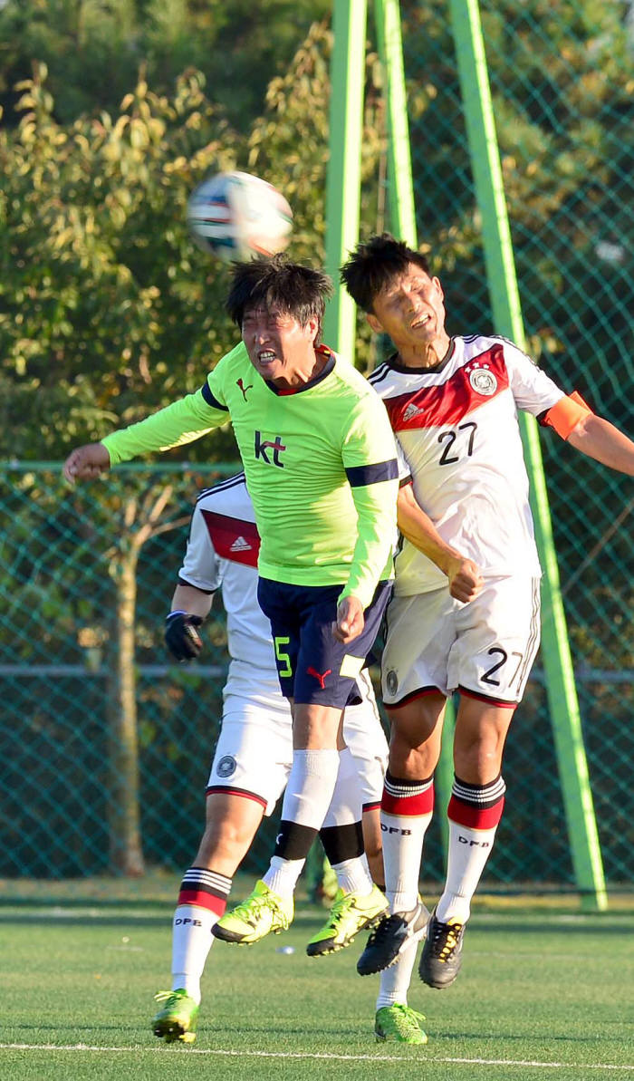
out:
{"label": "neon green sleeve with navy band, beside number 27's jersey", "polygon": [[366,395],[356,403],[342,457],[358,513],[358,536],[339,600],[352,595],[367,608],[378,583],[392,577],[399,494],[394,436],[378,395]]}

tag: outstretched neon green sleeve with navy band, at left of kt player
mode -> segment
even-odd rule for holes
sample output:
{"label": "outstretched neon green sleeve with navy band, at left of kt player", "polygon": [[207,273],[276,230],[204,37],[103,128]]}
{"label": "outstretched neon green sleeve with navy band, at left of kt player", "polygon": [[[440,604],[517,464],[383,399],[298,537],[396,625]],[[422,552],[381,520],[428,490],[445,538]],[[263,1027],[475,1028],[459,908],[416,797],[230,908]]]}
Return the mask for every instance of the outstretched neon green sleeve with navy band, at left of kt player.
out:
{"label": "outstretched neon green sleeve with navy band, at left of kt player", "polygon": [[145,421],[112,431],[102,440],[110,455],[110,465],[127,462],[137,454],[168,451],[192,443],[229,421],[222,396],[222,361],[210,373],[200,390],[172,402]]}

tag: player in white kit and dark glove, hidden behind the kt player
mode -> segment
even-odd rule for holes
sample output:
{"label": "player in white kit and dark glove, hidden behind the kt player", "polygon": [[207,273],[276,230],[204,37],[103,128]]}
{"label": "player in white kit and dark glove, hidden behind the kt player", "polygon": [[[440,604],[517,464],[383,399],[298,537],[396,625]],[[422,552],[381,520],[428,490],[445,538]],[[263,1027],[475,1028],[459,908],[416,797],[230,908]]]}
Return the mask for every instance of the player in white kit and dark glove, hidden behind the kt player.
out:
{"label": "player in white kit and dark glove, hidden behind the kt player", "polygon": [[[232,876],[262,816],[272,813],[293,763],[291,707],[280,690],[269,622],[257,602],[258,551],[244,473],[204,490],[192,515],[165,639],[178,659],[197,656],[202,649],[197,628],[221,588],[231,659],[206,788],[205,832],[174,915],[172,991],[158,997],[164,1004],[152,1022],[154,1035],[167,1042],[195,1039],[212,926],[226,909]],[[346,709],[347,747],[340,751],[337,786],[320,835],[343,890],[350,863],[365,862],[364,840],[375,880],[382,882],[379,805],[388,745],[367,670],[359,688],[361,704]],[[308,951],[318,956],[336,948],[340,946],[328,948],[322,934],[319,948],[311,950],[309,944]]]}

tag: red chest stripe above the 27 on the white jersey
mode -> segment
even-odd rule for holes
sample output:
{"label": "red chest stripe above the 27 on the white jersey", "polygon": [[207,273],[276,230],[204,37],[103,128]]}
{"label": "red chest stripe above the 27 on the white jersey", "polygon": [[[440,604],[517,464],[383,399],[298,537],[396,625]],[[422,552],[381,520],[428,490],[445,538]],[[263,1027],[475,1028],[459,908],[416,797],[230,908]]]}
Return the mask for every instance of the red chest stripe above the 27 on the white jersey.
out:
{"label": "red chest stripe above the 27 on the white jersey", "polygon": [[457,424],[509,386],[501,345],[469,360],[446,383],[383,398],[394,431]]}

